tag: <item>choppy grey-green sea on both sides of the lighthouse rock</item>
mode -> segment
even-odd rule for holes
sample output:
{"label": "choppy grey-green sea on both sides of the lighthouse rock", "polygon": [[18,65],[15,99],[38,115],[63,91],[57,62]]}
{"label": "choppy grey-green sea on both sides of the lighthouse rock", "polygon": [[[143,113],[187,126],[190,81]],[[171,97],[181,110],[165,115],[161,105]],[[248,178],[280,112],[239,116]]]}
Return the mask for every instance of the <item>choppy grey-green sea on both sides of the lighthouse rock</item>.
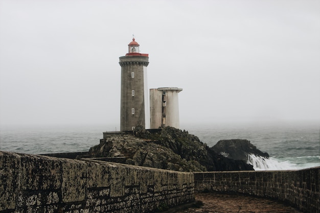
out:
{"label": "choppy grey-green sea on both sides of the lighthouse rock", "polygon": [[[255,170],[320,167],[319,123],[181,124],[209,147],[222,139],[248,139],[269,158],[249,155]],[[10,126],[0,128],[0,150],[28,153],[85,152],[98,145],[112,125]]]}

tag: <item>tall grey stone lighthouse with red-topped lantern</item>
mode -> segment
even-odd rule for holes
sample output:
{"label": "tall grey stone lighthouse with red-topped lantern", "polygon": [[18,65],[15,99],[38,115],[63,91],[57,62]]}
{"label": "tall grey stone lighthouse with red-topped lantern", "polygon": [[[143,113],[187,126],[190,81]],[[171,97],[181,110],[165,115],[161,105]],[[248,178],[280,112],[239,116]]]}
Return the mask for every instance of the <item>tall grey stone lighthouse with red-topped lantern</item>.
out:
{"label": "tall grey stone lighthouse with red-topped lantern", "polygon": [[133,38],[128,53],[120,57],[121,66],[121,120],[120,131],[136,126],[150,128],[147,66],[149,55],[139,52],[139,43]]}

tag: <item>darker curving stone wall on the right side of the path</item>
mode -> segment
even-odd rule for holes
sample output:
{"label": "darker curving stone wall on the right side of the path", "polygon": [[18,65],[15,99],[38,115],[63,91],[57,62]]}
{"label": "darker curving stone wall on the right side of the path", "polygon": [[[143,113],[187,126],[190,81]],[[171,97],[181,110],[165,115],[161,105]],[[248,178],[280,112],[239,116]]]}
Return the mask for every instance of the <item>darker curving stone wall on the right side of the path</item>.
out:
{"label": "darker curving stone wall on the right side of the path", "polygon": [[320,212],[320,167],[298,171],[194,173],[195,191],[274,198],[304,212]]}

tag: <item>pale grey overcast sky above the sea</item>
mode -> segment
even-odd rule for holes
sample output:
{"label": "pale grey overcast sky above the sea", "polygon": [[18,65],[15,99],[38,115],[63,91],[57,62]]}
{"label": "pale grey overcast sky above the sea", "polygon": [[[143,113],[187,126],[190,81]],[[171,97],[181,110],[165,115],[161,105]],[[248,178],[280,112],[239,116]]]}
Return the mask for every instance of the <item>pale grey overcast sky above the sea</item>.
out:
{"label": "pale grey overcast sky above the sea", "polygon": [[0,125],[120,127],[132,34],[180,125],[320,121],[318,0],[0,0]]}

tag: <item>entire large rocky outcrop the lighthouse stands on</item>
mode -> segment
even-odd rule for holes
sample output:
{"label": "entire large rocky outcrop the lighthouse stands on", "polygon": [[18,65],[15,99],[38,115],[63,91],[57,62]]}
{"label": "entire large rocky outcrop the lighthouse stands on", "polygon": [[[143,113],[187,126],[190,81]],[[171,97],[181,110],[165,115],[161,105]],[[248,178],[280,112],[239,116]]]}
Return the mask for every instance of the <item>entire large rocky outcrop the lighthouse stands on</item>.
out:
{"label": "entire large rocky outcrop the lighthouse stands on", "polygon": [[215,153],[188,131],[165,127],[150,133],[137,129],[136,136],[108,136],[90,148],[89,155],[125,157],[128,164],[185,172],[254,170],[242,160]]}

